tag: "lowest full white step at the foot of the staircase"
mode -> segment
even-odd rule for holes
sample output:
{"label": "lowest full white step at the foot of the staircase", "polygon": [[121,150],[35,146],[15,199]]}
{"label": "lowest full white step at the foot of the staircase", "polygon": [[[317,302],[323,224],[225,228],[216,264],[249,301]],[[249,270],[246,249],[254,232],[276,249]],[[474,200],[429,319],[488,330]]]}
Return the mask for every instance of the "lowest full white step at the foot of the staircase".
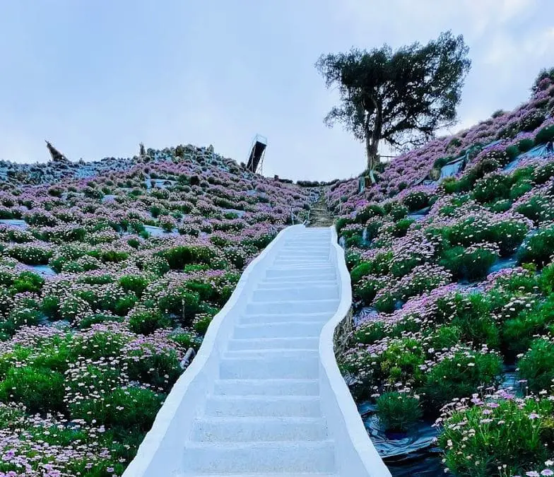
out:
{"label": "lowest full white step at the foot of the staircase", "polygon": [[[183,461],[191,472],[332,472],[331,441],[306,442],[191,442]],[[296,474],[295,474],[296,475]]]}

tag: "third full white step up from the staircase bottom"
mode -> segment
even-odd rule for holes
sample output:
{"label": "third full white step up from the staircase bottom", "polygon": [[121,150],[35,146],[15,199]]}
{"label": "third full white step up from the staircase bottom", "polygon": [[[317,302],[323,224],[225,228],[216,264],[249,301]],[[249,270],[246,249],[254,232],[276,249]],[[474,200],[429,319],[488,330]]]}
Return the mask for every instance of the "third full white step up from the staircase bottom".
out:
{"label": "third full white step up from the staircase bottom", "polygon": [[320,418],[319,396],[222,396],[206,399],[206,416]]}

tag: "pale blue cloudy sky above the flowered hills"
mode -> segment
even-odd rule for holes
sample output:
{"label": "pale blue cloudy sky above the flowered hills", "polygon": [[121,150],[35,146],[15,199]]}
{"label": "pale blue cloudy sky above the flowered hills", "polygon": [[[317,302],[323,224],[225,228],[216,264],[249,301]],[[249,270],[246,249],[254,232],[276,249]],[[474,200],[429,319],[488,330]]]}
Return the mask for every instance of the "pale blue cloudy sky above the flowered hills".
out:
{"label": "pale blue cloudy sky above the flowered hills", "polygon": [[0,158],[45,162],[48,139],[71,160],[142,141],[241,162],[261,134],[264,175],[352,177],[363,144],[323,124],[338,95],[320,54],[464,35],[454,133],[529,98],[553,18],[552,0],[0,0]]}

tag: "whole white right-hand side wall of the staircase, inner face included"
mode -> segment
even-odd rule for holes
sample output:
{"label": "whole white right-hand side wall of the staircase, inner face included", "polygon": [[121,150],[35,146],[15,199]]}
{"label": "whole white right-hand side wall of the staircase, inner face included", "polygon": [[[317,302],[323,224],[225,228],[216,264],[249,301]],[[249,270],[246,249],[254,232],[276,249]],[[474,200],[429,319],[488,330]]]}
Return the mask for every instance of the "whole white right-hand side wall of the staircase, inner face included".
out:
{"label": "whole white right-hand side wall of the staircase, inner face included", "polygon": [[319,339],[322,410],[326,416],[327,425],[335,438],[339,475],[391,477],[389,469],[367,435],[358,408],[336,363],[334,334],[338,324],[350,312],[352,288],[350,273],[348,273],[344,260],[344,250],[338,245],[334,226],[331,226],[330,229],[331,261],[334,261],[338,271],[341,300],[334,317],[323,327]]}

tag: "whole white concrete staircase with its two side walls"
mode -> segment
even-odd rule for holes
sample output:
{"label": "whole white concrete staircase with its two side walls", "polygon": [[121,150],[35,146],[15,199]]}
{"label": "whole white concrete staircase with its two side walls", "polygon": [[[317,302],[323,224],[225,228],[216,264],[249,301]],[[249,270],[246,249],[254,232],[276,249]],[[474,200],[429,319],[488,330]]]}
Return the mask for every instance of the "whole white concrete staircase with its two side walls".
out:
{"label": "whole white concrete staircase with its two side walls", "polygon": [[[174,455],[170,458],[163,449],[167,430],[165,435],[158,434],[158,449],[144,448],[147,436],[124,477],[390,475],[363,427],[363,445],[369,454],[360,457],[356,442],[345,443],[344,435],[336,432],[337,426],[331,422],[335,414],[325,412],[332,399],[326,396],[329,390],[322,380],[326,370],[320,336],[344,298],[334,230],[300,226],[290,229],[275,241],[278,246],[270,245],[272,253],[261,259],[264,266],[258,267],[257,278],[242,287],[243,302],[240,305],[241,300],[236,300],[235,319],[227,323],[223,337],[219,334],[220,339],[214,340],[213,363],[206,366],[204,379],[199,378],[205,382],[206,392],[200,393],[201,399],[189,399],[191,406],[181,413],[187,415],[182,432],[178,428],[177,432],[170,432],[173,441],[180,440],[177,445],[172,443],[173,454],[180,452],[178,459]],[[184,375],[189,371],[190,368]],[[190,381],[193,384],[194,378]],[[346,388],[344,382],[339,385]],[[170,397],[171,394],[168,400]],[[186,398],[185,393],[182,401]],[[182,407],[183,403],[178,404]],[[351,398],[346,404],[353,406]],[[168,418],[179,420],[179,411],[162,418],[167,426],[171,424]],[[357,418],[355,439],[359,440],[362,423]],[[153,442],[146,447],[152,448]],[[345,445],[355,449],[353,454],[362,465],[348,462],[352,449],[341,451]],[[152,454],[151,458],[144,459],[141,451]],[[368,459],[372,469],[368,469]],[[177,464],[168,464],[169,460]]]}

